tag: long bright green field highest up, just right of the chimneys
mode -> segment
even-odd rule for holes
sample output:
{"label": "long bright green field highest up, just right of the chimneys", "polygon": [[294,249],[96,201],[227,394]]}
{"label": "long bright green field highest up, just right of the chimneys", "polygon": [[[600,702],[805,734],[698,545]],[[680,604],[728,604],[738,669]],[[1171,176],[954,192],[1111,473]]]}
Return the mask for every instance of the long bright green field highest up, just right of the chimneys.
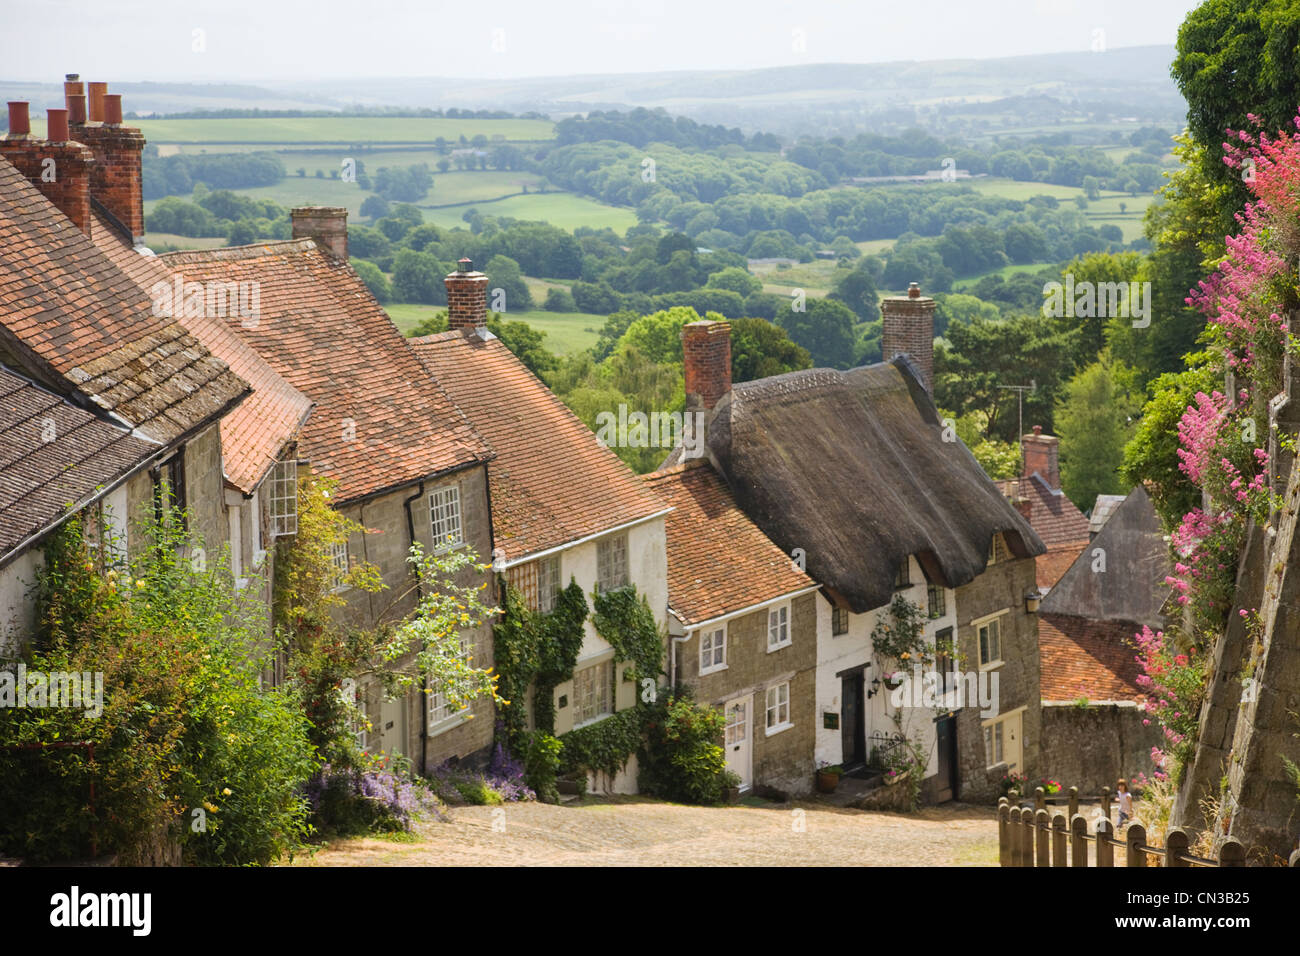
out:
{"label": "long bright green field highest up, just right of the chimneys", "polygon": [[[550,120],[441,120],[407,116],[303,116],[283,120],[133,120],[151,143],[456,143],[551,139]],[[32,122],[35,133],[36,122]],[[44,135],[44,130],[40,130]]]}

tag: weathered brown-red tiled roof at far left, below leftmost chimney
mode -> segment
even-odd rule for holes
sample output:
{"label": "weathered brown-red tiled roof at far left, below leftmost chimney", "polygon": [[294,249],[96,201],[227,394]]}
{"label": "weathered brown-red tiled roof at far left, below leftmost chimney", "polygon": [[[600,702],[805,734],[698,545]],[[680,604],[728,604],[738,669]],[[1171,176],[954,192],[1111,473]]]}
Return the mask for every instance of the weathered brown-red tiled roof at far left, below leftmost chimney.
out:
{"label": "weathered brown-red tiled roof at far left, below leftmost chimney", "polygon": [[0,159],[0,334],[13,362],[62,380],[161,442],[229,411],[248,385]]}

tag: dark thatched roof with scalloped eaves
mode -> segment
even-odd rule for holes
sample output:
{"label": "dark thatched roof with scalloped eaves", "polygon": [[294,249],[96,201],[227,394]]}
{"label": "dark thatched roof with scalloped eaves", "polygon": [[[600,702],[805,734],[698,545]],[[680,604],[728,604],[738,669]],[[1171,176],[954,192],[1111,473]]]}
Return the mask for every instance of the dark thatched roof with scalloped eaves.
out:
{"label": "dark thatched roof with scalloped eaves", "polygon": [[733,386],[708,454],[750,519],[862,613],[893,597],[915,554],[927,576],[967,584],[1002,532],[1015,557],[1045,548],[961,441],[911,362],[812,368]]}

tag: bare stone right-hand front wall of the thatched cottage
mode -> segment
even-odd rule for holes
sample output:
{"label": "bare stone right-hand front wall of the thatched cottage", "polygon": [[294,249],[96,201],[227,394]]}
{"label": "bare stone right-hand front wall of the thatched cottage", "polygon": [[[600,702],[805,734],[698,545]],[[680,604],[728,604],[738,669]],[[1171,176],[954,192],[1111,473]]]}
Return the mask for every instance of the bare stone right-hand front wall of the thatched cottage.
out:
{"label": "bare stone right-hand front wall of the thatched cottage", "polygon": [[[1018,773],[1040,774],[1041,697],[1039,691],[1039,620],[1024,607],[1024,596],[1036,591],[1034,558],[1004,557],[991,563],[970,584],[957,588],[957,646],[962,671],[976,671],[979,637],[975,622],[1001,614],[1001,658],[998,675],[998,715],[1020,713],[1020,766]],[[994,801],[1001,795],[1006,763],[989,766],[992,757],[984,745],[980,708],[967,702],[957,713],[958,799],[966,803]]]}

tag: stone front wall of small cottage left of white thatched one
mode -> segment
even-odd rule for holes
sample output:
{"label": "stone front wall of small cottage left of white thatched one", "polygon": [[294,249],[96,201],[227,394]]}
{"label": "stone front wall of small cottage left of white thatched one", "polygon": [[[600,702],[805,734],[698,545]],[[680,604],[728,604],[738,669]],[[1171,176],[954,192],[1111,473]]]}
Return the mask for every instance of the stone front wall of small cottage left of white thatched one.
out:
{"label": "stone front wall of small cottage left of white thatched one", "polygon": [[[701,675],[699,630],[689,640],[673,645],[677,678],[692,688],[696,700],[723,708],[737,697],[748,697],[749,739],[751,741],[753,786],[758,791],[807,793],[812,787],[816,744],[816,656],[818,604],[815,593],[792,598],[790,644],[767,649],[770,607],[728,618],[727,666]],[[779,606],[783,602],[777,602]],[[715,626],[706,627],[712,630]],[[790,726],[768,736],[766,723],[767,688],[789,682]]]}

